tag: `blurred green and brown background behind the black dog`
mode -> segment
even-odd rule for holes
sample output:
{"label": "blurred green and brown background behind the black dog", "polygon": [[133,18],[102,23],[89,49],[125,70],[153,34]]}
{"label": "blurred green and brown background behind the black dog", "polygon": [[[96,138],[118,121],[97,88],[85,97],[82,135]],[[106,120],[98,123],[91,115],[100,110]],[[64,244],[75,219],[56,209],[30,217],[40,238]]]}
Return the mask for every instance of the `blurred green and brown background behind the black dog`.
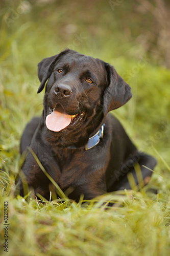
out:
{"label": "blurred green and brown background behind the black dog", "polygon": [[[169,1],[1,1],[1,164],[17,172],[19,138],[42,112],[37,63],[65,48],[111,63],[133,98],[114,111],[141,150],[169,160]],[[6,161],[6,163],[4,162]],[[5,163],[5,166],[4,166]],[[164,170],[160,161],[157,167]]]}

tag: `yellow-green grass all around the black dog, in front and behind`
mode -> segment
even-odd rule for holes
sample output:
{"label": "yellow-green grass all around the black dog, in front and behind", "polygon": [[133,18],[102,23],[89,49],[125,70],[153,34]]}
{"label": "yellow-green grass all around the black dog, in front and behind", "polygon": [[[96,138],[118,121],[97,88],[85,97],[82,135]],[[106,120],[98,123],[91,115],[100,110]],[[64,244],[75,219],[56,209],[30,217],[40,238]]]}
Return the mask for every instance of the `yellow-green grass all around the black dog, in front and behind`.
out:
{"label": "yellow-green grass all around the black dog, in front and behind", "polygon": [[[129,29],[133,33],[124,27],[133,9],[127,3],[117,6],[114,12],[103,1],[96,5],[88,2],[83,7],[75,1],[69,8],[68,1],[64,2],[65,5],[56,2],[48,6],[30,1],[30,9],[19,14],[9,26],[7,18],[11,17],[11,10],[19,10],[20,2],[9,1],[11,9],[2,5],[0,253],[10,256],[169,255],[169,70],[158,65],[154,55],[145,52],[135,40],[140,21],[137,14],[133,22],[130,20]],[[72,25],[73,32],[67,32],[68,25]],[[140,25],[141,29],[146,26]],[[84,204],[83,198],[78,204],[68,199],[43,204],[33,199],[27,202],[19,196],[13,198],[20,161],[19,139],[26,123],[33,116],[41,115],[43,108],[43,93],[37,95],[37,63],[69,45],[110,62],[129,82],[133,98],[113,113],[138,148],[155,156],[158,164],[151,182],[140,191],[119,191]],[[104,209],[103,202],[110,200],[117,204]],[[9,210],[8,253],[3,248],[4,201],[8,202]]]}

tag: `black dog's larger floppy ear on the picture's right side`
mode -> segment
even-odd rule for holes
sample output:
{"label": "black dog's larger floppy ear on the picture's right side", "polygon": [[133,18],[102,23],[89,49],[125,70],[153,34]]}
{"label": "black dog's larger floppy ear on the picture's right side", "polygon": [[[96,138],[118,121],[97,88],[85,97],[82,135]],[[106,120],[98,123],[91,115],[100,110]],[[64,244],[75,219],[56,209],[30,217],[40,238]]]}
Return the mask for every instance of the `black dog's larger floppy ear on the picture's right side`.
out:
{"label": "black dog's larger floppy ear on the picture's right side", "polygon": [[106,63],[108,84],[104,92],[103,111],[106,115],[109,111],[118,109],[132,97],[131,88],[120,77],[113,66]]}

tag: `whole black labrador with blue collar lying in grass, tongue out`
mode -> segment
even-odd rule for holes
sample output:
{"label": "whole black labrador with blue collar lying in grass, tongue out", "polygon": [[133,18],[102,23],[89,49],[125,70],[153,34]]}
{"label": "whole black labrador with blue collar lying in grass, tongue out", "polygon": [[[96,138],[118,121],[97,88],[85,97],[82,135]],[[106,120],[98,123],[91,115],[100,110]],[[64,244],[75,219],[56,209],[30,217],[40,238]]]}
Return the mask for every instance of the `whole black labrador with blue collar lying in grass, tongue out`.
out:
{"label": "whole black labrador with blue collar lying in grass, tongue out", "polygon": [[[108,63],[65,50],[38,64],[40,93],[45,87],[44,108],[23,132],[21,153],[30,146],[42,166],[68,197],[90,200],[104,193],[130,189],[127,175],[139,184],[138,163],[145,185],[155,158],[138,152],[123,126],[109,111],[131,97],[130,86]],[[24,196],[23,183],[47,200],[58,197],[51,180],[29,151],[22,166],[16,193]]]}

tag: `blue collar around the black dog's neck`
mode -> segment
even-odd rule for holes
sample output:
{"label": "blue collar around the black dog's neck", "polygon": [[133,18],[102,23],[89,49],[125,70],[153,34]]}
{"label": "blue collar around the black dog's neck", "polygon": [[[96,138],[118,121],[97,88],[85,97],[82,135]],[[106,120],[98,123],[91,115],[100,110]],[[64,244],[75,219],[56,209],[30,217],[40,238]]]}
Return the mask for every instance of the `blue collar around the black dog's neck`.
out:
{"label": "blue collar around the black dog's neck", "polygon": [[[88,139],[88,142],[85,145],[85,150],[90,150],[90,148],[96,146],[100,142],[100,140],[103,138],[104,127],[105,127],[105,123],[102,125],[101,129],[96,134],[94,134],[94,136],[92,136]],[[76,149],[79,147],[68,146],[67,148],[75,148]]]}

